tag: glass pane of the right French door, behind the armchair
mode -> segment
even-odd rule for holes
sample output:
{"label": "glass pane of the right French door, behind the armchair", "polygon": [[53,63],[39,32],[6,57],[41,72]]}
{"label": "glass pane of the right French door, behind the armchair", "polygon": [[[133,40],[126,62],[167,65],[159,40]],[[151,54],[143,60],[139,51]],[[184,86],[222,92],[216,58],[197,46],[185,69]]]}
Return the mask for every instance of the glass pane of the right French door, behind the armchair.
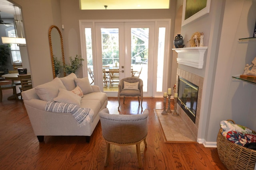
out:
{"label": "glass pane of the right French door, behind the armchair", "polygon": [[148,34],[149,28],[131,28],[131,74],[143,81],[143,91],[148,91]]}

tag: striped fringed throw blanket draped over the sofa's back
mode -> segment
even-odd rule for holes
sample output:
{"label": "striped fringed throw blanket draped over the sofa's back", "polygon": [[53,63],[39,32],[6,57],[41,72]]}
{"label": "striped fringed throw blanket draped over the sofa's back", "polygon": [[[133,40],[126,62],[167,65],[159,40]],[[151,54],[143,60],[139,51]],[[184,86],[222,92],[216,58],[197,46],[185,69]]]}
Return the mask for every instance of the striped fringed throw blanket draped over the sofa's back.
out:
{"label": "striped fringed throw blanket draped over the sofa's back", "polygon": [[54,101],[47,102],[44,110],[57,113],[71,113],[80,127],[85,126],[94,114],[91,108],[80,108],[74,104],[60,103]]}

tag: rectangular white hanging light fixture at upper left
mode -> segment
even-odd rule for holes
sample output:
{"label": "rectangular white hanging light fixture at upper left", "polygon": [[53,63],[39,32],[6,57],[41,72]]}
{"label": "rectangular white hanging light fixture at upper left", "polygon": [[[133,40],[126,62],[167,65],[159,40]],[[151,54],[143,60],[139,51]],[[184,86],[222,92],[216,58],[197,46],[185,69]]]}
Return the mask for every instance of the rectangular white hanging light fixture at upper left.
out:
{"label": "rectangular white hanging light fixture at upper left", "polygon": [[[15,12],[15,17],[14,18],[14,31],[15,31],[15,35],[16,37],[2,37],[2,43],[3,44],[19,44],[19,45],[26,45],[26,39],[23,38],[22,36],[22,30],[21,30],[21,24],[22,23],[22,16],[21,16],[21,10],[20,10],[20,21],[17,19],[17,14],[16,14],[16,8],[14,7],[14,12]],[[19,8],[20,9],[20,8]],[[21,33],[21,38],[18,37],[18,33],[17,33],[17,27],[16,27],[16,23],[19,23],[20,26],[20,33]]]}

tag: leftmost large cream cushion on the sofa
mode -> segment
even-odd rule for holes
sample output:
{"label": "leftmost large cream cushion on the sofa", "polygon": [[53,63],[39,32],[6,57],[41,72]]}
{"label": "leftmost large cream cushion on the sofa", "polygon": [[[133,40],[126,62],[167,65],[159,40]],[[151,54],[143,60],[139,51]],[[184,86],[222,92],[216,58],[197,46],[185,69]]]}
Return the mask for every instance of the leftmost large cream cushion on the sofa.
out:
{"label": "leftmost large cream cushion on the sofa", "polygon": [[66,90],[60,78],[56,77],[50,82],[36,86],[35,90],[41,100],[48,102],[58,96],[59,88]]}

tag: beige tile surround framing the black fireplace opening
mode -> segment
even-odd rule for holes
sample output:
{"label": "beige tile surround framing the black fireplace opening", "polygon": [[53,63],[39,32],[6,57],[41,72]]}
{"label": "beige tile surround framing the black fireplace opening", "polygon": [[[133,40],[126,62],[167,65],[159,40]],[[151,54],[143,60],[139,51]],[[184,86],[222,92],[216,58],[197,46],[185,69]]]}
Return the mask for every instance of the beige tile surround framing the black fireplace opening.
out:
{"label": "beige tile surround framing the black fireplace opening", "polygon": [[[186,110],[184,107],[182,107],[177,104],[177,112],[182,118],[182,120],[186,123],[187,127],[190,129],[192,134],[195,138],[197,138],[198,134],[198,122],[200,119],[200,108],[201,108],[201,101],[202,101],[202,88],[203,88],[203,82],[204,78],[201,76],[198,76],[196,74],[192,74],[191,72],[187,72],[185,70],[182,70],[180,68],[177,69],[177,78],[176,78],[176,84],[179,83],[179,78],[182,78],[183,80],[187,80],[188,82],[191,82],[192,84],[198,86],[198,92],[197,92],[197,105],[196,105],[196,116],[195,119],[192,120],[190,115],[186,113]],[[182,92],[183,93],[183,92]],[[182,98],[182,93],[179,92],[179,98]],[[191,95],[191,94],[190,94]],[[194,122],[195,123],[194,123]]]}

